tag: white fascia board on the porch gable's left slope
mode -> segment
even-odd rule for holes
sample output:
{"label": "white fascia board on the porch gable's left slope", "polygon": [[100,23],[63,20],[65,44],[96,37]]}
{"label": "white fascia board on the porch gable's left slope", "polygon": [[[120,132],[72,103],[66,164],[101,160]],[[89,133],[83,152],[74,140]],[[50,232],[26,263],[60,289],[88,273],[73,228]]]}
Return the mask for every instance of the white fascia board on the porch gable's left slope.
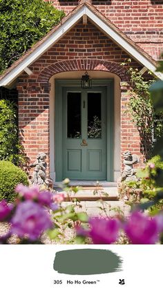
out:
{"label": "white fascia board on the porch gable's left slope", "polygon": [[50,48],[53,44],[55,44],[56,41],[58,41],[61,37],[64,36],[70,28],[74,26],[74,24],[83,17],[83,15],[86,14],[86,6],[82,6],[81,9],[77,11],[73,17],[70,17],[67,21],[65,21],[64,24],[62,24],[46,41],[44,41],[36,50],[34,50],[33,53],[31,53],[26,59],[24,59],[21,64],[19,64],[17,67],[13,68],[8,75],[3,77],[0,81],[0,86],[6,86],[9,85],[11,82],[13,82],[13,79],[17,78],[25,68],[30,66],[32,62],[34,62],[36,59],[38,59],[43,53]]}

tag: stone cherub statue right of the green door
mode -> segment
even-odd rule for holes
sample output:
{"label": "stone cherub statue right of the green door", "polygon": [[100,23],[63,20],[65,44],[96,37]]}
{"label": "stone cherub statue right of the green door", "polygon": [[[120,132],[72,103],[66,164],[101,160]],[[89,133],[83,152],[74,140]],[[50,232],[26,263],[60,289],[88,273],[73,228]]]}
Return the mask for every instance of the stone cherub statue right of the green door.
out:
{"label": "stone cherub statue right of the green door", "polygon": [[140,158],[133,154],[131,151],[124,151],[124,171],[122,171],[121,182],[126,181],[137,181],[135,176],[136,170],[133,169],[133,165],[137,164],[140,161]]}

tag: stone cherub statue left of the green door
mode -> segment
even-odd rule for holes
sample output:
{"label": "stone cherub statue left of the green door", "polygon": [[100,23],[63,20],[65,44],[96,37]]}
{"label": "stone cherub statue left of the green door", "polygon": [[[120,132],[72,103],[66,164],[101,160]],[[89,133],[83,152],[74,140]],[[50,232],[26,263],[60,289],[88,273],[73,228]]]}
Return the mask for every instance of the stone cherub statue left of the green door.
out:
{"label": "stone cherub statue left of the green door", "polygon": [[36,162],[33,162],[30,167],[35,167],[32,175],[32,185],[48,185],[49,182],[46,179],[46,154],[39,153],[37,155]]}

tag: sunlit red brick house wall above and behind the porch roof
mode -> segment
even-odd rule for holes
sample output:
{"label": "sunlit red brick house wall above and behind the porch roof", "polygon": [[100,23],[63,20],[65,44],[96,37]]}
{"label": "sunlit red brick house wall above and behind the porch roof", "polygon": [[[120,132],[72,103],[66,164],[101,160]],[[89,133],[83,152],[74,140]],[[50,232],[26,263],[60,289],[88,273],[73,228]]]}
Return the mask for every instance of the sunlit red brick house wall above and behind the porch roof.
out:
{"label": "sunlit red brick house wall above and behind the porch roof", "polygon": [[[78,1],[51,1],[55,7],[66,13],[78,5]],[[92,3],[154,59],[160,58],[163,51],[162,0],[93,0]]]}

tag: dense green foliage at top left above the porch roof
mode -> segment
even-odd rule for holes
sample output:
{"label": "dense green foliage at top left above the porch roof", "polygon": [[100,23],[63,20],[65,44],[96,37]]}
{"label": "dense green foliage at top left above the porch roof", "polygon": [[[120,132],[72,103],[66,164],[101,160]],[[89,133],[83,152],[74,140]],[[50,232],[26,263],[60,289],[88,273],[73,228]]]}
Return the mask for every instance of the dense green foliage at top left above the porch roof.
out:
{"label": "dense green foliage at top left above the porch roof", "polygon": [[44,0],[0,0],[0,73],[59,23],[63,11]]}

